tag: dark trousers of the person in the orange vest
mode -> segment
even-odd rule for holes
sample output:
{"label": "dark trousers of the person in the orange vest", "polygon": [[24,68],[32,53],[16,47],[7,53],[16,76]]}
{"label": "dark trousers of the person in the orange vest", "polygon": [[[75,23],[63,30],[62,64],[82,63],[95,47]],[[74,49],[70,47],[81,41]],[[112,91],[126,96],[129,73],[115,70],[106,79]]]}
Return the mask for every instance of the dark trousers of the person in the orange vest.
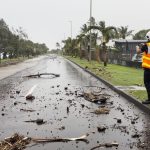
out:
{"label": "dark trousers of the person in the orange vest", "polygon": [[147,90],[148,100],[150,100],[150,69],[144,69],[144,84]]}

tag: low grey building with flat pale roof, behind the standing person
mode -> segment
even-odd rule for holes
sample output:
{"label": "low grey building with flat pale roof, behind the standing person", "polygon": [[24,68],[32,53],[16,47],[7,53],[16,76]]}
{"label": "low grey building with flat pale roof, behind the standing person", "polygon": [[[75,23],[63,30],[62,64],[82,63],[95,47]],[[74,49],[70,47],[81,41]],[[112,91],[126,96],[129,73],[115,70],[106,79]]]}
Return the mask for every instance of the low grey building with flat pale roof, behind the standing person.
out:
{"label": "low grey building with flat pale roof, behind the standing person", "polygon": [[109,49],[109,62],[125,66],[141,67],[142,55],[136,54],[136,46],[146,40],[114,40]]}

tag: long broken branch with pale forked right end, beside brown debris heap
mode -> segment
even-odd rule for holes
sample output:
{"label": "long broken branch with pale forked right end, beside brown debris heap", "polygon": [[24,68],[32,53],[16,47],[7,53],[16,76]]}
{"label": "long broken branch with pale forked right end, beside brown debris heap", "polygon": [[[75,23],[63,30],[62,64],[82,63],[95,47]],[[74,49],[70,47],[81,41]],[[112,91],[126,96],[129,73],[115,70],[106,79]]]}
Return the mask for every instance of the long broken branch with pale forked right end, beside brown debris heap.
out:
{"label": "long broken branch with pale forked right end, beside brown debris heap", "polygon": [[87,135],[83,135],[77,138],[53,138],[53,139],[36,139],[32,138],[33,142],[41,143],[41,142],[69,142],[69,141],[83,141],[88,143],[88,140],[86,139]]}

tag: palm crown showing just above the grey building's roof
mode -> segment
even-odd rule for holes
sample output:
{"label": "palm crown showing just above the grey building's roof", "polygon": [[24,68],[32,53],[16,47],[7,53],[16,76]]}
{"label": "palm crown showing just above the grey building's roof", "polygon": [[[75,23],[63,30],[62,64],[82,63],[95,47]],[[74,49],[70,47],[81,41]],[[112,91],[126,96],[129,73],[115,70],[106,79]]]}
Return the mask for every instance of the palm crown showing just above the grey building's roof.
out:
{"label": "palm crown showing just above the grey building's roof", "polygon": [[117,29],[118,31],[118,38],[126,39],[126,37],[132,35],[133,30],[128,31],[128,26],[121,26]]}

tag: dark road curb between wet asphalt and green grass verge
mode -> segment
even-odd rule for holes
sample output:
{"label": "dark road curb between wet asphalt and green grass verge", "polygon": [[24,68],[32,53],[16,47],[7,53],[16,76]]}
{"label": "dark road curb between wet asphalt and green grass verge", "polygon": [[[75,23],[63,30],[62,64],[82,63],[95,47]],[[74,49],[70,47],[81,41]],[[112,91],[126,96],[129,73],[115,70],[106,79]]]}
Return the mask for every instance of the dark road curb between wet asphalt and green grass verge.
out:
{"label": "dark road curb between wet asphalt and green grass verge", "polygon": [[[67,59],[69,60],[69,59]],[[139,102],[137,99],[135,99],[134,97],[128,95],[127,93],[125,93],[124,91],[119,90],[118,88],[116,88],[114,85],[112,85],[111,83],[107,82],[106,80],[98,77],[97,75],[95,75],[94,73],[92,73],[91,71],[83,68],[82,66],[80,66],[79,64],[69,60],[70,62],[72,62],[73,64],[77,65],[79,68],[83,69],[85,72],[89,73],[90,75],[92,75],[93,77],[95,77],[96,79],[98,79],[99,81],[101,81],[102,83],[104,83],[106,86],[108,86],[109,88],[111,88],[113,91],[115,91],[116,93],[120,94],[121,96],[123,96],[124,98],[126,98],[129,102],[132,102],[133,104],[135,104],[138,108],[142,109],[144,112],[146,113],[150,113],[150,108],[148,108],[147,106],[143,105],[141,102]]]}

